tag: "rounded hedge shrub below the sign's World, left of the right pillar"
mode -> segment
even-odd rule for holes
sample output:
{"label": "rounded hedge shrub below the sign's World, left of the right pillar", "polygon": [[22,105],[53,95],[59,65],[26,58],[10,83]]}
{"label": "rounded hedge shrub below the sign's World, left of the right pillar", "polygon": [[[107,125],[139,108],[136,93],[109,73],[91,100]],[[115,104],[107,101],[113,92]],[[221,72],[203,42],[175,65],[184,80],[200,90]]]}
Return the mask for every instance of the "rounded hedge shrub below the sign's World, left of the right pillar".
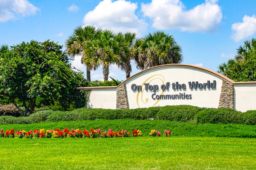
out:
{"label": "rounded hedge shrub below the sign's World, left of the right pillar", "polygon": [[156,119],[188,122],[194,115],[204,108],[191,105],[163,106],[156,115]]}

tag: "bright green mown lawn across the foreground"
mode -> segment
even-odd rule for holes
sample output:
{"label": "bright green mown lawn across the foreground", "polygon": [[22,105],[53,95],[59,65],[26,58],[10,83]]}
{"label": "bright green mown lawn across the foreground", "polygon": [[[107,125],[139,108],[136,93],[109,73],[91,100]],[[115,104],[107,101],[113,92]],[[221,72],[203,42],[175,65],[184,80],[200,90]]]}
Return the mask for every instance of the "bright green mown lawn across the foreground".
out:
{"label": "bright green mown lawn across the foreground", "polygon": [[0,139],[1,170],[256,169],[256,139]]}

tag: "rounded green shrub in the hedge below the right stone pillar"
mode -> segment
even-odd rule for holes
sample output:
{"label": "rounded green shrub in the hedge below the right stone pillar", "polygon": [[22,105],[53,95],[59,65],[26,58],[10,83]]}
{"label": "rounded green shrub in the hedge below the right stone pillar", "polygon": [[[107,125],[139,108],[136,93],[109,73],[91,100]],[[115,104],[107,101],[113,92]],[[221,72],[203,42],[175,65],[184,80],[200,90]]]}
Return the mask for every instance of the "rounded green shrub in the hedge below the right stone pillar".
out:
{"label": "rounded green shrub in the hedge below the right stone pillar", "polygon": [[212,123],[212,124],[243,124],[244,113],[231,108],[206,108],[195,115],[197,123]]}

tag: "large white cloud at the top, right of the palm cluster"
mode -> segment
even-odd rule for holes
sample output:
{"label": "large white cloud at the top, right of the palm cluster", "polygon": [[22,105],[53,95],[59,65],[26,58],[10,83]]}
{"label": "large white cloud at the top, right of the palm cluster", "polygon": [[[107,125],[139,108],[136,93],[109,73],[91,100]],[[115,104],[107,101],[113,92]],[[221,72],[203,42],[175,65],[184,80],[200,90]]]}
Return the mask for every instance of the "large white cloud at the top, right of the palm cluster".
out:
{"label": "large white cloud at the top, right of the palm cluster", "polygon": [[180,0],[152,0],[151,3],[142,3],[141,8],[157,29],[209,32],[214,31],[222,19],[217,0],[205,0],[190,10],[186,10]]}

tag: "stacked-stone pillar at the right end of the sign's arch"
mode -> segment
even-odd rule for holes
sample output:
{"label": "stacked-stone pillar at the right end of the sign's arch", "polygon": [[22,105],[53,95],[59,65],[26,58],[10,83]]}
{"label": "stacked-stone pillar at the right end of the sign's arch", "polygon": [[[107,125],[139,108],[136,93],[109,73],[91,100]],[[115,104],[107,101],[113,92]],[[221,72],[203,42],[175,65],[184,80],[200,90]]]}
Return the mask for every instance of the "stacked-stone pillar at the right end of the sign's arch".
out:
{"label": "stacked-stone pillar at the right end of the sign's arch", "polygon": [[234,86],[226,80],[222,81],[218,108],[220,107],[230,107],[234,109]]}

